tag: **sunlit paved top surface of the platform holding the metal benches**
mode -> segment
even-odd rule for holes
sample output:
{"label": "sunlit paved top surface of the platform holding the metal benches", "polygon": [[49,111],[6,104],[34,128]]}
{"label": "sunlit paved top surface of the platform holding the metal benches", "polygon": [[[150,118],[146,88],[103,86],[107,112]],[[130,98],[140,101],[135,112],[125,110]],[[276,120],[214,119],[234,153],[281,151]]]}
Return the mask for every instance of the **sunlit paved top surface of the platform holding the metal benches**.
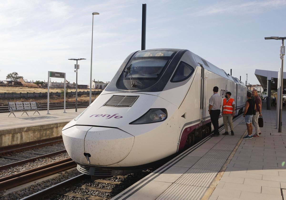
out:
{"label": "sunlit paved top surface of the platform holding the metal benches", "polygon": [[40,115],[33,115],[34,111],[27,111],[29,116],[25,113],[21,116],[22,112],[15,112],[16,117],[13,114],[8,117],[9,113],[0,113],[0,130],[71,121],[84,109],[78,108],[78,112],[75,112],[75,109],[66,109],[66,113],[63,113],[63,109],[50,110],[49,115],[46,110],[39,111]]}

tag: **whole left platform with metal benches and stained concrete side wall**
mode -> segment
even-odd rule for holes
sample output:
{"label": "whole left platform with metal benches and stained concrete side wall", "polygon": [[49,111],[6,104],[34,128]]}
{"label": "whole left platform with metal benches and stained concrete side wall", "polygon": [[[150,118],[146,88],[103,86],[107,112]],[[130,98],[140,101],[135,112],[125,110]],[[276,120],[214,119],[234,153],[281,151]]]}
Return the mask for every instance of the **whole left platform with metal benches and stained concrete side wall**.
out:
{"label": "whole left platform with metal benches and stained concrete side wall", "polygon": [[39,113],[27,111],[21,116],[22,112],[0,113],[0,147],[47,139],[61,135],[61,129],[72,119],[78,116],[85,108],[50,110],[49,115],[46,110]]}

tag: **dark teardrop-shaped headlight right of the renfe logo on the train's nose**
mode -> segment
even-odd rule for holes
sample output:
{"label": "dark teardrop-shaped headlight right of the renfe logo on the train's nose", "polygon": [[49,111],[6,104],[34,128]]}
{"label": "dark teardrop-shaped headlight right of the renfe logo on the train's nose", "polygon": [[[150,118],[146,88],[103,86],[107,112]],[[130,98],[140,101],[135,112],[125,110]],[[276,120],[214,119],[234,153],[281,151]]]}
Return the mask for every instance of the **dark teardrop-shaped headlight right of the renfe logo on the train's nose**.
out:
{"label": "dark teardrop-shaped headlight right of the renfe logo on the train's nose", "polygon": [[129,124],[148,124],[164,121],[167,118],[167,110],[164,108],[150,109],[144,115]]}

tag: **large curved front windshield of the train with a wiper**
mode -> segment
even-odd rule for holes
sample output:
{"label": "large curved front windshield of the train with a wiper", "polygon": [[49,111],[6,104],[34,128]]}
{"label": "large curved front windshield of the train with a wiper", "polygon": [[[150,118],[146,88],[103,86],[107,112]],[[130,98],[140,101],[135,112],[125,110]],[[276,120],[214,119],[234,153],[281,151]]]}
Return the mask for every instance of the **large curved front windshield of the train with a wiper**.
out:
{"label": "large curved front windshield of the train with a wiper", "polygon": [[164,73],[175,51],[140,51],[125,66],[118,89],[142,90],[151,87]]}

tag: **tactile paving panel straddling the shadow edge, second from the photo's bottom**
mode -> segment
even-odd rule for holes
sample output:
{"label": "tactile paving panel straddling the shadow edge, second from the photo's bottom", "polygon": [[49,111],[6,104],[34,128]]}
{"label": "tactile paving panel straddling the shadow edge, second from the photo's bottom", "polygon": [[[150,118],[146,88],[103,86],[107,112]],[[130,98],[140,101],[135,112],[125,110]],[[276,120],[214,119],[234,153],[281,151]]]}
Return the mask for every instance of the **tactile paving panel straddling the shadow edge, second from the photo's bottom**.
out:
{"label": "tactile paving panel straddling the shadow edge, second from the photo's bottom", "polygon": [[197,187],[209,187],[219,171],[190,168],[177,181],[181,185],[193,185]]}

